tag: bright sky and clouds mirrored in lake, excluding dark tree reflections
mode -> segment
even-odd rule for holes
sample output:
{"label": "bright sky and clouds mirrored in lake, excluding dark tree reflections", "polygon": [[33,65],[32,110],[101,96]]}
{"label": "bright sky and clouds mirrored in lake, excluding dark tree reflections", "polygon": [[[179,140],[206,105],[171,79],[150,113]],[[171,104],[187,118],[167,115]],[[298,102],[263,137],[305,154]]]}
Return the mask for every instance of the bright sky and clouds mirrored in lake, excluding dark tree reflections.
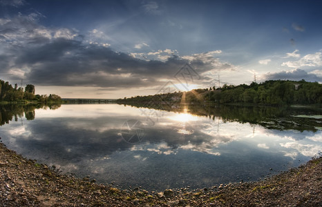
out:
{"label": "bright sky and clouds mirrored in lake, excluding dark tree reflections", "polygon": [[23,126],[1,126],[1,137],[19,154],[63,172],[149,190],[258,179],[269,168],[297,166],[296,160],[307,161],[322,148],[321,130],[269,130],[221,117],[162,113],[154,126],[146,124],[138,144],[126,143],[120,128],[128,119],[146,118],[138,108],[119,105],[39,109]]}

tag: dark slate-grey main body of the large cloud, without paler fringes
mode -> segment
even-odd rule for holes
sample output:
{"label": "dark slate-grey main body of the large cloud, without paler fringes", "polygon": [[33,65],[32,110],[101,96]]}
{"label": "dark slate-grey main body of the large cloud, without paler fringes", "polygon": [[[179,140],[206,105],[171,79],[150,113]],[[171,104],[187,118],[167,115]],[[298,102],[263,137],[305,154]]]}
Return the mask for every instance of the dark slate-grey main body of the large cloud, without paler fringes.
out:
{"label": "dark slate-grey main body of the large cloud, without paler fringes", "polygon": [[26,77],[32,83],[55,86],[140,87],[171,77],[184,61],[135,59],[104,46],[57,39],[39,48],[28,48],[17,58],[19,66],[28,66]]}

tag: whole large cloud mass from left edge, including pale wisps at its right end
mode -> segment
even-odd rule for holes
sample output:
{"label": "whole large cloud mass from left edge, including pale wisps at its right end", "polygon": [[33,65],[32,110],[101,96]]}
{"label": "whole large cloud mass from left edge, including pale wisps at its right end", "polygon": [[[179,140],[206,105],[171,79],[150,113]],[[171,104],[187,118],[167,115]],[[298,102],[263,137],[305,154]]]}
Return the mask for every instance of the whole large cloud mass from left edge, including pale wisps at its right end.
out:
{"label": "whole large cloud mass from left edge, including pale wisps at its right end", "polygon": [[187,62],[200,74],[232,67],[214,57],[221,51],[179,57],[164,50],[162,61],[140,59],[93,42],[76,30],[45,28],[39,18],[41,14],[32,13],[0,19],[1,44],[8,59],[0,70],[24,71],[8,74],[12,79],[40,86],[158,87],[164,79],[173,79]]}

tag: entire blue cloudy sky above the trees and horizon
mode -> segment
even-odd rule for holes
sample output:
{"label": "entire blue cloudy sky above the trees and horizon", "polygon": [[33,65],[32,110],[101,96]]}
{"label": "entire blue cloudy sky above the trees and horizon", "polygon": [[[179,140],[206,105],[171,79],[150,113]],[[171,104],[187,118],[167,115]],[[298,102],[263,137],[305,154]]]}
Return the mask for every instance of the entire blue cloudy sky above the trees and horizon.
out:
{"label": "entire blue cloudy sky above the trees and horizon", "polygon": [[322,1],[0,0],[0,79],[115,99],[322,83]]}

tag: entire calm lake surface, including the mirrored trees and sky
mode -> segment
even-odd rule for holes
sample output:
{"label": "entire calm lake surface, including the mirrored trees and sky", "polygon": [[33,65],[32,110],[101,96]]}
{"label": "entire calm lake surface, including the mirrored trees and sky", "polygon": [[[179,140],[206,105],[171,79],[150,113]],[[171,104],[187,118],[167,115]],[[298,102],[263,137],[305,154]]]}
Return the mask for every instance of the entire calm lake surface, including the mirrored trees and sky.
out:
{"label": "entire calm lake surface, including the mirrored trees and sky", "polygon": [[126,189],[254,181],[321,153],[319,108],[118,104],[1,106],[3,144],[77,177]]}

